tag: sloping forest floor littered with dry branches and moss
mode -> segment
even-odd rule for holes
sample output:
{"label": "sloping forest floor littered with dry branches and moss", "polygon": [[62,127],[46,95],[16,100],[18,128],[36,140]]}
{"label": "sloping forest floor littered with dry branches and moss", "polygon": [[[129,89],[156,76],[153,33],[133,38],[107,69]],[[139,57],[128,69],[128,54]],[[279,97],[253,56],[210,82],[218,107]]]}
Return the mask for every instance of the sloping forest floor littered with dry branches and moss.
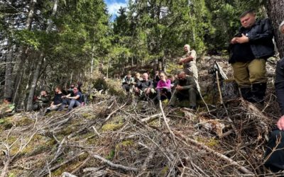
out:
{"label": "sloping forest floor littered with dry branches and moss", "polygon": [[216,79],[208,73],[214,61],[232,77],[222,57],[201,61],[205,103],[199,101],[197,111],[136,101],[119,81],[109,79],[107,94],[94,93],[92,103],[70,113],[16,113],[1,119],[1,176],[277,175],[263,166],[268,135],[280,115],[275,61],[267,64],[263,105],[226,92],[226,81],[221,104]]}

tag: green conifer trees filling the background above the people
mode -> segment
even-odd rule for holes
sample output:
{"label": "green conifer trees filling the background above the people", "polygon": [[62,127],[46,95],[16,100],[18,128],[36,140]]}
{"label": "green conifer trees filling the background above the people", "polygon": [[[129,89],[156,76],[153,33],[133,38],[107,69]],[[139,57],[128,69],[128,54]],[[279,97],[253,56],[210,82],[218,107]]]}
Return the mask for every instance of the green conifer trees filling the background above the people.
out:
{"label": "green conifer trees filling the background above the people", "polygon": [[158,60],[165,69],[186,43],[199,56],[226,55],[239,14],[252,7],[273,18],[279,48],[283,12],[272,8],[275,3],[136,0],[111,21],[103,0],[0,0],[0,97],[30,110],[40,89],[80,81],[99,67],[111,76]]}

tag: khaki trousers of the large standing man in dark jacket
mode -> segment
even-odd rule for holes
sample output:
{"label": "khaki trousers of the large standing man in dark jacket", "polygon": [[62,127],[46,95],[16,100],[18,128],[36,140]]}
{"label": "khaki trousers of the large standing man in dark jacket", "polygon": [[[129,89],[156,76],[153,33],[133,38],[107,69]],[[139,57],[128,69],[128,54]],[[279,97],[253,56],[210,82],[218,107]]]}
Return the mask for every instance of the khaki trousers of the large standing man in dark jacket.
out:
{"label": "khaki trousers of the large standing man in dark jacket", "polygon": [[232,64],[234,79],[240,88],[251,84],[266,83],[266,59],[253,59],[251,62],[235,62]]}

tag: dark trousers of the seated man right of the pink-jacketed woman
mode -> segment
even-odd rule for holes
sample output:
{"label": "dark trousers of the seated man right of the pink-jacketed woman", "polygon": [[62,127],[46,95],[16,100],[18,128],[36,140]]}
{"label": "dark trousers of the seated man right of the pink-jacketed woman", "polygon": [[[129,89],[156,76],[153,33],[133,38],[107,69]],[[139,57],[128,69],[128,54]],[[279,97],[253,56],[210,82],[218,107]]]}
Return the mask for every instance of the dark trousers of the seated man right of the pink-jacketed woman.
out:
{"label": "dark trousers of the seated man right of the pink-jacketed woman", "polygon": [[170,105],[175,105],[175,102],[178,98],[180,101],[188,99],[190,101],[190,106],[196,106],[196,96],[197,91],[193,88],[181,91],[175,90],[175,93],[173,94],[172,99],[170,100]]}

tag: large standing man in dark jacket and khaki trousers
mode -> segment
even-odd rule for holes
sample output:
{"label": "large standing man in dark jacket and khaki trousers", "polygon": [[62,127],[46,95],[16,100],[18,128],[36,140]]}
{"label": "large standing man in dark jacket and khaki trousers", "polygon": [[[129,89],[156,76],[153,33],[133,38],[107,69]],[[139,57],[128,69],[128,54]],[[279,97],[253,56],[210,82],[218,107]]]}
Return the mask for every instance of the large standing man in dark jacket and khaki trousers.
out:
{"label": "large standing man in dark jacket and khaki trousers", "polygon": [[231,63],[241,96],[251,103],[262,102],[266,95],[266,59],[274,55],[273,28],[268,19],[256,20],[256,13],[240,16],[241,28],[231,39]]}

